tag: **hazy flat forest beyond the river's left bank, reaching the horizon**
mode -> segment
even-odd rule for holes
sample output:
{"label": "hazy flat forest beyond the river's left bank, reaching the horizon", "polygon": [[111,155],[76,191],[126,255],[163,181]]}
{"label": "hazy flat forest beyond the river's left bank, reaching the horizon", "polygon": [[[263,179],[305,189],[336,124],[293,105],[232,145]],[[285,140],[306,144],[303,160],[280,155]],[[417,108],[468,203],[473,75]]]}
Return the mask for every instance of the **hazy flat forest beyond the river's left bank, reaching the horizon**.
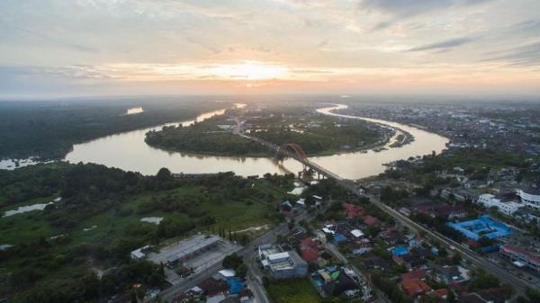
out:
{"label": "hazy flat forest beyond the river's left bank, reaching the horizon", "polygon": [[[139,106],[144,112],[125,114]],[[193,99],[0,102],[0,159],[60,159],[76,143],[184,120],[227,106]]]}

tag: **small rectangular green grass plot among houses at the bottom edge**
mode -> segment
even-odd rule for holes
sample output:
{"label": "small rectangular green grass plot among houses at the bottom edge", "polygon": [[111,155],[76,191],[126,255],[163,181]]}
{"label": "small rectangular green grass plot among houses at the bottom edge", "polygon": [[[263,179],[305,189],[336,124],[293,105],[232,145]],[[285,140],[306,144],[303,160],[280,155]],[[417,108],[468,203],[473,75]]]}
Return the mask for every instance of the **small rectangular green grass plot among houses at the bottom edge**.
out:
{"label": "small rectangular green grass plot among houses at the bottom edge", "polygon": [[319,293],[307,279],[272,281],[266,286],[273,303],[320,303]]}

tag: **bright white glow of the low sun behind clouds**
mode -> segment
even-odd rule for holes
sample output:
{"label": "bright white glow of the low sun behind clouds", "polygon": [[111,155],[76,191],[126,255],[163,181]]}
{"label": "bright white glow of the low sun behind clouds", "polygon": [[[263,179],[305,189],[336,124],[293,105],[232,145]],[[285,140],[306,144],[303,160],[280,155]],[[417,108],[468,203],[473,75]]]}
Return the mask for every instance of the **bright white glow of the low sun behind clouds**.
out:
{"label": "bright white glow of the low sun behind clouds", "polygon": [[286,76],[288,68],[271,66],[258,62],[220,65],[211,67],[209,71],[215,76],[238,80],[267,80]]}

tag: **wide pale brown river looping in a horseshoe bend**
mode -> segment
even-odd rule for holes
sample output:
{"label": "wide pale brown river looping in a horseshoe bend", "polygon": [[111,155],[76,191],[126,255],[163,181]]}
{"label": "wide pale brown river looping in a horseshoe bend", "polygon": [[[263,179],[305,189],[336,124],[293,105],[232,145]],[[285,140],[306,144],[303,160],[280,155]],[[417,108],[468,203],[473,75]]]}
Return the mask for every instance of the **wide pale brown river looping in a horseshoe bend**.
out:
{"label": "wide pale brown river looping in a horseshoe bend", "polygon": [[[400,123],[374,120],[356,116],[341,115],[332,112],[347,108],[346,105],[336,105],[318,110],[320,113],[347,119],[369,120],[375,123],[402,129],[414,136],[415,140],[403,147],[388,148],[381,152],[369,150],[365,153],[344,153],[334,156],[315,156],[311,160],[347,179],[360,179],[384,171],[383,164],[410,156],[423,156],[432,151],[440,153],[448,140],[428,131],[415,129]],[[185,120],[180,123],[190,125],[194,121],[223,114],[225,110],[211,111],[202,114],[195,120]],[[178,123],[168,123],[172,125]],[[159,168],[167,167],[173,173],[206,174],[232,171],[239,175],[284,174],[299,172],[302,165],[293,159],[285,159],[277,164],[272,158],[240,157],[240,156],[202,156],[179,152],[167,152],[149,147],[145,142],[145,134],[150,129],[161,129],[163,125],[149,129],[133,130],[108,137],[98,138],[82,144],[77,144],[73,151],[66,156],[71,163],[93,162],[97,164],[118,167],[123,170],[136,171],[141,174],[156,174]]]}

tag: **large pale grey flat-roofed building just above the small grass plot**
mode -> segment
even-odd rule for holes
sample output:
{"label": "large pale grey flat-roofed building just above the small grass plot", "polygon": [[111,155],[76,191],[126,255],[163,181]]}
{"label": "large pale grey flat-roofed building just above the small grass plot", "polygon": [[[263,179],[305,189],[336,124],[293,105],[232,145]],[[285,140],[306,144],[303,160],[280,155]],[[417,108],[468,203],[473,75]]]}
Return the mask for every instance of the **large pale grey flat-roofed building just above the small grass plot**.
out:
{"label": "large pale grey flat-roofed building just above the small grass plot", "polygon": [[294,251],[284,252],[275,245],[261,245],[258,251],[263,267],[274,279],[301,278],[308,273],[308,263]]}

